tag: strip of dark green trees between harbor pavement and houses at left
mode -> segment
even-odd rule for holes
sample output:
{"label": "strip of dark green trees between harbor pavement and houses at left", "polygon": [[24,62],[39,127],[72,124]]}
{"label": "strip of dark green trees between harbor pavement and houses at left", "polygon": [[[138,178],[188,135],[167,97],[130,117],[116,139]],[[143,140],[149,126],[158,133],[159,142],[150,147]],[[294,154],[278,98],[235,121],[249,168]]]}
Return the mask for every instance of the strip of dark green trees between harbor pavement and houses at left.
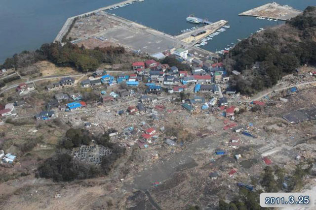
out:
{"label": "strip of dark green trees between harbor pavement and houses at left", "polygon": [[59,42],[43,44],[36,51],[23,51],[8,58],[0,68],[23,68],[30,66],[40,60],[48,60],[57,66],[70,66],[81,72],[93,71],[101,63],[118,63],[122,55],[125,54],[123,47],[104,47],[95,49],[85,49],[67,42],[62,45]]}

